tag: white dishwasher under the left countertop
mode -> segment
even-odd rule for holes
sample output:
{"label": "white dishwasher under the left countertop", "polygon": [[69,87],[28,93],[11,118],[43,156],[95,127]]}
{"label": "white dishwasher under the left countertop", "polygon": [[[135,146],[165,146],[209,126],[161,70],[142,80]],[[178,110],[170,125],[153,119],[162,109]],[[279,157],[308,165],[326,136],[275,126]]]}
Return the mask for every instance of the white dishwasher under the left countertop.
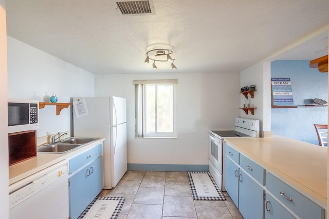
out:
{"label": "white dishwasher under the left countertop", "polygon": [[67,219],[68,217],[67,160],[9,186],[9,219]]}

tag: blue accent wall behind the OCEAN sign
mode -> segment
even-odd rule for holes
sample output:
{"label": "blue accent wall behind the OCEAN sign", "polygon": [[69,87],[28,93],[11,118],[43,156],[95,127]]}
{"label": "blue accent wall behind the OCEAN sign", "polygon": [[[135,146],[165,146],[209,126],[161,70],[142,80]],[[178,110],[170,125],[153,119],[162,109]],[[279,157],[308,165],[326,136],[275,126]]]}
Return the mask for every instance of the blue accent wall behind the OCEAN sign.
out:
{"label": "blue accent wall behind the OCEAN sign", "polygon": [[[310,99],[328,102],[328,73],[309,68],[309,60],[280,60],[271,63],[271,77],[289,77],[294,105],[298,108],[271,108],[271,131],[295,140],[318,145],[313,124],[327,124],[327,107],[306,107]],[[269,82],[270,83],[270,82]]]}

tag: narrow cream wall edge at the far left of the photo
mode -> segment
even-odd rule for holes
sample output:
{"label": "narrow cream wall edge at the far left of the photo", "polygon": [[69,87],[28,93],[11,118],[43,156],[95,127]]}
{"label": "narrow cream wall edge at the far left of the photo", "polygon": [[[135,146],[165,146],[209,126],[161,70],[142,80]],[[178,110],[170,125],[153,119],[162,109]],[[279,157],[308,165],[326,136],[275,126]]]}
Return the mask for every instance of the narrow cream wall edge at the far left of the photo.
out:
{"label": "narrow cream wall edge at the far left of the photo", "polygon": [[0,212],[9,217],[8,205],[8,117],[7,117],[7,33],[5,0],[0,0]]}

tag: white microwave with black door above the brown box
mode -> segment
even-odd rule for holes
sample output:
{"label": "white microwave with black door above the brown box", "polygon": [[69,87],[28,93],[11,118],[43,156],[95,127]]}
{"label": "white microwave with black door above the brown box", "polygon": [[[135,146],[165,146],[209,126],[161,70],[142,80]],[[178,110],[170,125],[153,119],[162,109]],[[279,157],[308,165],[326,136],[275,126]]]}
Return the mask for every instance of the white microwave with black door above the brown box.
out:
{"label": "white microwave with black door above the brown box", "polygon": [[8,133],[39,128],[39,101],[8,99]]}

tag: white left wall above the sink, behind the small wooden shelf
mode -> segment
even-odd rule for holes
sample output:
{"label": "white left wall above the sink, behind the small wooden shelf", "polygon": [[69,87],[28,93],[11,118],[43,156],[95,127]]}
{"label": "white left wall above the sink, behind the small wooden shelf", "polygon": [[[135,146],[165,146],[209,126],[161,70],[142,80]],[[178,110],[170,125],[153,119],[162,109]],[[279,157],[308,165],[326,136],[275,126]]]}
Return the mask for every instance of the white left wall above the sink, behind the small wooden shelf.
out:
{"label": "white left wall above the sink, behind the small wooden shelf", "polygon": [[[59,103],[73,96],[94,95],[94,74],[31,47],[10,36],[8,39],[8,98],[49,102],[52,91]],[[37,137],[70,130],[70,110],[56,115],[55,106],[40,109]]]}

